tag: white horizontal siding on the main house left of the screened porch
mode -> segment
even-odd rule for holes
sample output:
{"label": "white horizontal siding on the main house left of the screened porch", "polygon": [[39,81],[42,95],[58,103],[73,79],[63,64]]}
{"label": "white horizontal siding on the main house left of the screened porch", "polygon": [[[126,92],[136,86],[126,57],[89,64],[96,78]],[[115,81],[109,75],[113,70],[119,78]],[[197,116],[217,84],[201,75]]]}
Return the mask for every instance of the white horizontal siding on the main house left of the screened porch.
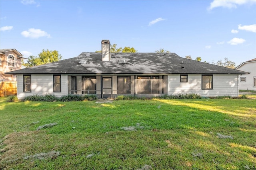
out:
{"label": "white horizontal siding on the main house left of the screened porch", "polygon": [[34,94],[45,95],[54,94],[64,96],[68,94],[68,76],[61,75],[61,92],[53,92],[53,74],[32,74],[31,92],[23,92],[23,75],[17,75],[17,97],[24,98]]}

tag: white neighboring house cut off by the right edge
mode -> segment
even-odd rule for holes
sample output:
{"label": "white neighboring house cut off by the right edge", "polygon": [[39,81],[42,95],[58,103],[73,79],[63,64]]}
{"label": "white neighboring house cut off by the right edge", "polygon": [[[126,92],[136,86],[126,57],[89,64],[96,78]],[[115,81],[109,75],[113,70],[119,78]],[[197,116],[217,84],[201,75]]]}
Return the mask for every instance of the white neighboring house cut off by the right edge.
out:
{"label": "white neighboring house cut off by the right edge", "polygon": [[236,67],[238,70],[250,72],[239,75],[239,90],[256,90],[256,58],[246,61]]}

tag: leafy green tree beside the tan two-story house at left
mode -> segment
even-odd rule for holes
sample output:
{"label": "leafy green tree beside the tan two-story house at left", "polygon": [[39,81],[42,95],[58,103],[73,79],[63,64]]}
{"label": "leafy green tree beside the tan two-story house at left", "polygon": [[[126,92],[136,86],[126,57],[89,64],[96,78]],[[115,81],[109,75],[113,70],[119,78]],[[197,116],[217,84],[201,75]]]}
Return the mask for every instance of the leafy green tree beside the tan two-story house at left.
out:
{"label": "leafy green tree beside the tan two-story house at left", "polygon": [[28,57],[27,63],[22,61],[22,66],[31,67],[31,66],[38,66],[41,64],[52,63],[55,61],[60,61],[62,56],[59,54],[58,51],[49,51],[49,50],[42,50],[41,53],[38,54],[38,57],[30,55]]}

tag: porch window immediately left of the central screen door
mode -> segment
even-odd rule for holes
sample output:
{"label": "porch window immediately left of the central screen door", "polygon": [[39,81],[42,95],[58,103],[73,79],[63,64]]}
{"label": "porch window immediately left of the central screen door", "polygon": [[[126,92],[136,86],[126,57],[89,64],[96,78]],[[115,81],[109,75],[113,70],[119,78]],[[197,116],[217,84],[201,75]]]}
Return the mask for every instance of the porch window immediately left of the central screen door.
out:
{"label": "porch window immediately left of the central screen door", "polygon": [[82,94],[96,94],[95,76],[82,76]]}

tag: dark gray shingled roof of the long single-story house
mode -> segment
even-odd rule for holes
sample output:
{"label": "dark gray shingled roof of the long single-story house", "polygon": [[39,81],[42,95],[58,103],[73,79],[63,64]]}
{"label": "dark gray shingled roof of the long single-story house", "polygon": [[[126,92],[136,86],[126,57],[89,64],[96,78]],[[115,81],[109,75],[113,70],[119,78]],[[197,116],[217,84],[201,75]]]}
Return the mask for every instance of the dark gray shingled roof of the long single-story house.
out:
{"label": "dark gray shingled roof of the long single-story house", "polygon": [[[83,60],[82,62],[80,62]],[[86,61],[87,60],[87,61]],[[123,63],[124,64],[118,64]],[[81,64],[86,61],[86,64]],[[79,63],[80,62],[80,63]],[[182,66],[184,68],[182,68]],[[14,70],[7,74],[248,74],[248,72],[179,57],[175,53],[81,53],[78,57]]]}

